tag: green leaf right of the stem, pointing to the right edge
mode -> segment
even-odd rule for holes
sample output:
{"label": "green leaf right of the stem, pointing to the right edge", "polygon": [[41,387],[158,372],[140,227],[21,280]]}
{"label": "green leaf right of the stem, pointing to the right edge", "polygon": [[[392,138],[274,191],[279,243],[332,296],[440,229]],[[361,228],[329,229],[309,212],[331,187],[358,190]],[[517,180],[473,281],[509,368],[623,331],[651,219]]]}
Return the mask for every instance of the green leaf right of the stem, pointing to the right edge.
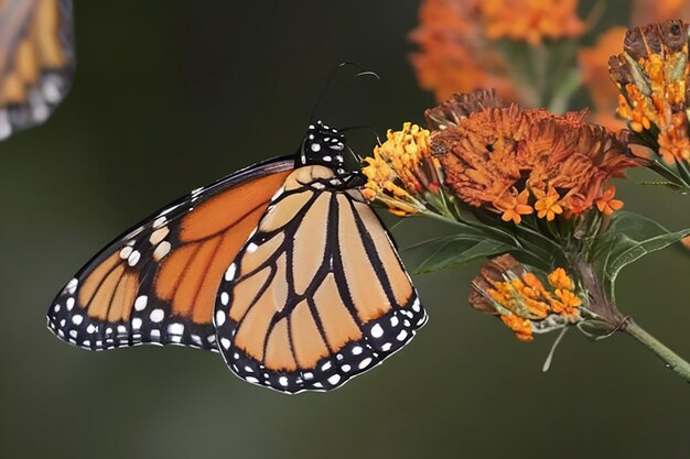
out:
{"label": "green leaf right of the stem, pointing to the right edge", "polygon": [[623,267],[690,234],[690,228],[669,231],[633,212],[616,212],[611,227],[590,252],[594,265],[614,298],[614,284]]}

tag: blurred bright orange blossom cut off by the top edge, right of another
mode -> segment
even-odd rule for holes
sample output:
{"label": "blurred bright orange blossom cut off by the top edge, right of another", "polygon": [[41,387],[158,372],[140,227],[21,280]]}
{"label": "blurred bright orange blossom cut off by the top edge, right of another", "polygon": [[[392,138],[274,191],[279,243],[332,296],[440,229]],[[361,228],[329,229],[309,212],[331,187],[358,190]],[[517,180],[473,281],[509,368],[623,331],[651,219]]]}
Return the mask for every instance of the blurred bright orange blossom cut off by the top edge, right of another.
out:
{"label": "blurred bright orange blossom cut off by the top edge, right of another", "polygon": [[584,33],[578,0],[484,0],[479,3],[486,35],[492,40],[575,39]]}

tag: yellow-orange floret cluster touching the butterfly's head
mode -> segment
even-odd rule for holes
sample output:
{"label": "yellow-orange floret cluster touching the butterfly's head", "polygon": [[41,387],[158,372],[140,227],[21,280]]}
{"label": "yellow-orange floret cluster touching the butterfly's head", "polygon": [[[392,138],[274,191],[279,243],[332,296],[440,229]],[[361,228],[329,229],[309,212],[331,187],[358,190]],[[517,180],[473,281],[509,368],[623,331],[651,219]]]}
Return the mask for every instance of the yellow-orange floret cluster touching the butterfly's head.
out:
{"label": "yellow-orange floret cluster touching the butterfly's head", "polygon": [[441,187],[440,165],[431,157],[428,130],[406,122],[402,130],[388,130],[387,140],[365,157],[367,177],[362,194],[379,199],[400,217],[427,211],[423,194]]}

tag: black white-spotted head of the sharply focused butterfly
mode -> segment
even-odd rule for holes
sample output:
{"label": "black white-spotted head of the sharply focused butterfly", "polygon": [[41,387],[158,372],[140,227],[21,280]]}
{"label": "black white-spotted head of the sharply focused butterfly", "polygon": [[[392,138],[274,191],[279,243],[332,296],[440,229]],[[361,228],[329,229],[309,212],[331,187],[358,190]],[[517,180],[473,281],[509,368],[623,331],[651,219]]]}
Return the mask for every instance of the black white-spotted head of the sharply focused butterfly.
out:
{"label": "black white-spotted head of the sharply focused butterfly", "polygon": [[320,164],[334,171],[343,168],[345,151],[345,135],[337,129],[316,121],[309,127],[302,141],[298,157],[298,165]]}

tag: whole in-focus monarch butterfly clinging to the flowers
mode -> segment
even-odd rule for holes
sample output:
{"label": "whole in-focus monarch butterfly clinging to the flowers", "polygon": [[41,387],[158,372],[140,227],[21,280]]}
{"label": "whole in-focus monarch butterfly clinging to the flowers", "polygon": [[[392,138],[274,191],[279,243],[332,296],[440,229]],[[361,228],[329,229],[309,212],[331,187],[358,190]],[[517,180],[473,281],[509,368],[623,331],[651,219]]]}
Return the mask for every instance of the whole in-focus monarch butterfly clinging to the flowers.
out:
{"label": "whole in-focus monarch butterfly clinging to the flowers", "polygon": [[219,351],[239,378],[287,393],[332,390],[380,363],[427,313],[345,147],[317,122],[297,155],[164,207],[67,283],[48,328],[89,350]]}

